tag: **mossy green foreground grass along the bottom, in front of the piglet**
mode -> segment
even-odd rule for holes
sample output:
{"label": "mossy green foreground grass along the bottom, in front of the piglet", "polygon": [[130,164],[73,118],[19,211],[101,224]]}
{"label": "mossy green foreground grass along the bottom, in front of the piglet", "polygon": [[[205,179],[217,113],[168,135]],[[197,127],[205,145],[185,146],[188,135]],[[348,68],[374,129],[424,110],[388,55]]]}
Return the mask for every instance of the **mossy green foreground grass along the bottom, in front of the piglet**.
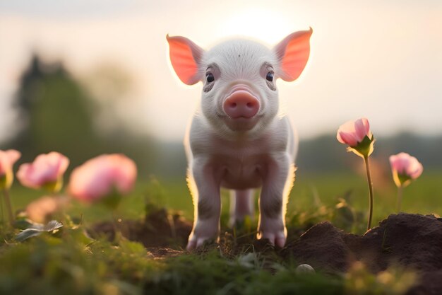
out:
{"label": "mossy green foreground grass along the bottom, in front of the piglet", "polygon": [[[202,253],[155,259],[143,245],[91,241],[80,226],[0,247],[0,294],[403,294],[410,272],[299,273],[265,253]],[[387,277],[381,279],[381,277]]]}

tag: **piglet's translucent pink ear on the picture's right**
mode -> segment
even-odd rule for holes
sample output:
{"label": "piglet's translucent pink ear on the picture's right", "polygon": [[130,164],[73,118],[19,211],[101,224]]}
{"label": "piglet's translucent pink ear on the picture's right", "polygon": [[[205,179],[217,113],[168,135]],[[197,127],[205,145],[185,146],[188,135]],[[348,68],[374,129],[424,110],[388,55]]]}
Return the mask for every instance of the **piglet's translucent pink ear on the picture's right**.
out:
{"label": "piglet's translucent pink ear on the picture's right", "polygon": [[280,61],[280,78],[294,81],[301,75],[310,55],[310,36],[313,30],[292,33],[279,42],[273,50]]}

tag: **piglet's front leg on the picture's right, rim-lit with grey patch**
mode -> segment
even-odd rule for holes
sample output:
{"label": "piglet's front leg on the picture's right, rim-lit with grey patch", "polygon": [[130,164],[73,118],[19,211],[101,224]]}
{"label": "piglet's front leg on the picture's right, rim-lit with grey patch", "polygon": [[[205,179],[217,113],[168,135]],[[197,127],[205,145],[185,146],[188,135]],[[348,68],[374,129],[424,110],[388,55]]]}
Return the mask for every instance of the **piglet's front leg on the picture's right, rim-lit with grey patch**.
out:
{"label": "piglet's front leg on the picture's right, rim-lit with grey patch", "polygon": [[284,247],[287,239],[285,211],[288,195],[294,181],[294,164],[287,154],[273,156],[263,175],[259,199],[258,238]]}

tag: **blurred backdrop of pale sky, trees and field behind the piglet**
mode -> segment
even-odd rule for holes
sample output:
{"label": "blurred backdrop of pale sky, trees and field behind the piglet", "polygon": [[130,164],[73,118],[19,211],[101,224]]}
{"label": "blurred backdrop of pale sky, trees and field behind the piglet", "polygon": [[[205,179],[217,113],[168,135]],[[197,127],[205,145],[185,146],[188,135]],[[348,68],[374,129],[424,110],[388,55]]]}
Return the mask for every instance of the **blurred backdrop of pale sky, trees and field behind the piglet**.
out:
{"label": "blurred backdrop of pale sky, trees and field behind the piglet", "polygon": [[[295,83],[278,82],[281,110],[301,139],[287,218],[320,221],[330,217],[321,206],[342,207],[342,199],[356,215],[365,214],[362,160],[335,139],[340,124],[362,116],[376,138],[374,220],[395,212],[388,156],[400,151],[424,165],[422,177],[405,189],[402,211],[441,214],[441,4],[317,2],[227,1],[216,4],[225,13],[216,22],[206,13],[215,4],[204,1],[192,7],[185,1],[1,2],[0,149],[23,153],[16,168],[37,154],[65,154],[71,160],[66,185],[72,168],[89,158],[124,153],[136,161],[139,177],[119,214],[136,218],[153,202],[191,219],[181,141],[201,89],[174,77],[165,35],[186,35],[202,47],[230,35],[272,44],[311,26],[306,71]],[[11,195],[23,209],[42,192],[16,182]],[[225,213],[228,201],[225,193]],[[105,209],[76,203],[71,212],[85,221],[108,218]]]}

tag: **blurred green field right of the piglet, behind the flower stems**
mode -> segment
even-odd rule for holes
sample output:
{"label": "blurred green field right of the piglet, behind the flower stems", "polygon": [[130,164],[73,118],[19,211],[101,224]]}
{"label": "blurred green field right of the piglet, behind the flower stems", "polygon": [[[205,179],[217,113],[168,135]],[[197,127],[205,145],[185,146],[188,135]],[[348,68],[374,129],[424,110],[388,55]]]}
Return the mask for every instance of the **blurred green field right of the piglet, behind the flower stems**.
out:
{"label": "blurred green field right of the piglet, behind the flower stems", "polygon": [[[390,176],[390,175],[388,175]],[[426,171],[421,178],[405,187],[401,212],[442,214],[442,172]],[[396,212],[397,188],[393,180],[374,180],[374,217],[372,226]],[[299,175],[289,200],[287,216],[302,212],[315,212],[318,202],[333,207],[344,198],[362,216],[366,226],[369,192],[365,175],[355,173],[329,173]],[[359,231],[359,233],[361,233]]]}

